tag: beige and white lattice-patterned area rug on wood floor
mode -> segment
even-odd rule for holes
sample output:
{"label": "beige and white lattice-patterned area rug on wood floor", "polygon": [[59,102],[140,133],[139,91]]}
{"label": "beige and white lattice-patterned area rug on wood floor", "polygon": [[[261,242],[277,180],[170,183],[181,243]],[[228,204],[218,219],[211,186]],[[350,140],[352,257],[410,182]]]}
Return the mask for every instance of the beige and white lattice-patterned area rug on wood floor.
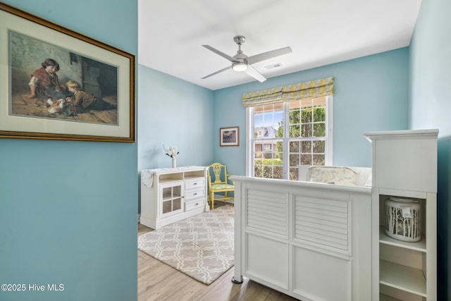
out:
{"label": "beige and white lattice-patterned area rug on wood floor", "polygon": [[233,206],[172,223],[138,236],[138,249],[205,284],[234,261]]}

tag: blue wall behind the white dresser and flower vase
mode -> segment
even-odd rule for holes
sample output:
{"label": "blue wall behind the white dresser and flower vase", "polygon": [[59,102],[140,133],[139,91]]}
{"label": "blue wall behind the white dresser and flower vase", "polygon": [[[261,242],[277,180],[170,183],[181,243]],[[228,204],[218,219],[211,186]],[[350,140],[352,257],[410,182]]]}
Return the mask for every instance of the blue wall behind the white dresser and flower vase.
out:
{"label": "blue wall behind the white dresser and flower vase", "polygon": [[178,147],[178,166],[211,164],[213,91],[142,65],[138,75],[138,171],[171,167],[163,144]]}

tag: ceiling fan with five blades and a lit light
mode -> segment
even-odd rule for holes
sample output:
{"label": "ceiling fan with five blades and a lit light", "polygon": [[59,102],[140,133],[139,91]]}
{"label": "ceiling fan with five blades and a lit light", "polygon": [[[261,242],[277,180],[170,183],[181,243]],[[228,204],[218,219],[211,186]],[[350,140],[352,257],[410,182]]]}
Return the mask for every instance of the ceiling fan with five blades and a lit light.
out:
{"label": "ceiling fan with five blades and a lit light", "polygon": [[227,54],[223,53],[222,51],[219,51],[218,49],[214,49],[213,47],[211,47],[209,45],[202,45],[206,49],[209,49],[209,50],[213,51],[215,54],[219,54],[223,58],[226,58],[232,62],[232,65],[230,65],[226,68],[223,68],[221,70],[218,70],[215,73],[206,75],[202,78],[202,80],[204,78],[209,78],[210,76],[216,75],[223,71],[233,69],[238,72],[245,72],[248,75],[251,75],[252,78],[259,80],[259,82],[264,82],[266,80],[266,78],[263,75],[261,75],[259,73],[259,71],[257,71],[251,65],[253,63],[258,63],[259,61],[265,61],[267,59],[272,59],[276,56],[281,56],[283,54],[289,54],[290,52],[292,52],[290,47],[284,47],[284,48],[280,48],[280,49],[276,49],[276,50],[267,51],[267,52],[264,52],[261,54],[256,54],[254,56],[247,56],[241,50],[241,45],[246,41],[246,38],[243,37],[242,35],[237,35],[236,37],[233,38],[233,41],[235,41],[235,43],[238,44],[238,51],[237,51],[237,54],[235,54],[235,56],[228,56]]}

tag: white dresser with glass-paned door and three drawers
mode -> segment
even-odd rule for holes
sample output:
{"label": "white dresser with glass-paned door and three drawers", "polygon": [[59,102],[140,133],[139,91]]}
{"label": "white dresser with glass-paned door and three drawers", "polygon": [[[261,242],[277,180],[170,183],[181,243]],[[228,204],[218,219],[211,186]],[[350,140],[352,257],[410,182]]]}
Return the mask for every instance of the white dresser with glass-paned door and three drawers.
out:
{"label": "white dresser with glass-paned door and three drawers", "polygon": [[209,211],[206,167],[143,169],[140,223],[153,229]]}

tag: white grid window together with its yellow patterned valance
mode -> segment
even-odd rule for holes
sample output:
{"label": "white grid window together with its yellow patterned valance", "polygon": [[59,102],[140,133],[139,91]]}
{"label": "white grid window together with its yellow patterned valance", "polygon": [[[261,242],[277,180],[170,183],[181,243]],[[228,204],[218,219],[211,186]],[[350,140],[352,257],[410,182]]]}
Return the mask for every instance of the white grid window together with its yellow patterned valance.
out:
{"label": "white grid window together with its yellow patterned valance", "polygon": [[246,175],[299,179],[299,165],[332,165],[333,77],[247,92]]}

